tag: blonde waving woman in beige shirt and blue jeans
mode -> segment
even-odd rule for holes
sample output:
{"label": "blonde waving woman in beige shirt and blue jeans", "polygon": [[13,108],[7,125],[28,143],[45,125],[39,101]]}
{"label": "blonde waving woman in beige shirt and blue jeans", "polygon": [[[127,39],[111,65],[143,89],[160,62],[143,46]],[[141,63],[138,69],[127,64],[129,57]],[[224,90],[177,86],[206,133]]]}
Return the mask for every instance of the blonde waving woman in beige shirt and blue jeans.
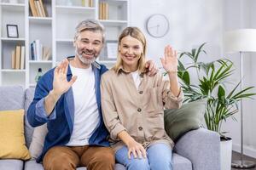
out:
{"label": "blonde waving woman in beige shirt and blue jeans", "polygon": [[149,77],[143,70],[146,39],[137,27],[119,36],[118,61],[102,76],[103,120],[116,161],[129,169],[172,169],[173,142],[165,132],[164,108],[179,108],[183,93],[177,82],[177,53],[165,48],[161,63],[168,73]]}

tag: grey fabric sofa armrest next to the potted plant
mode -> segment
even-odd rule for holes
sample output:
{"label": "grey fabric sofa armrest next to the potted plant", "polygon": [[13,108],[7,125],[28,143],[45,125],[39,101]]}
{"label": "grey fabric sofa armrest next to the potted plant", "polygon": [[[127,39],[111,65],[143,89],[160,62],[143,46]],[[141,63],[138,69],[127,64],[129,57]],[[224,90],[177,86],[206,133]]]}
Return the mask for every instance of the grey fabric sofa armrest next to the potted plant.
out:
{"label": "grey fabric sofa armrest next to the potted plant", "polygon": [[220,137],[218,133],[199,128],[181,137],[174,151],[188,158],[194,170],[220,170]]}

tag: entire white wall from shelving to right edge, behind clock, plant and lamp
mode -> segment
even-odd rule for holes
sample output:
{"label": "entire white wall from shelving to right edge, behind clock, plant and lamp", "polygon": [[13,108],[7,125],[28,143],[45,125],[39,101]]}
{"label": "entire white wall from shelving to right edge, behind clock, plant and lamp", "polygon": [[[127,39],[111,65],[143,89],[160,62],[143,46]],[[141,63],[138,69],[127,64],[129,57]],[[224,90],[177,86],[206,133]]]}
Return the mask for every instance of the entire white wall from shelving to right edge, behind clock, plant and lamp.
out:
{"label": "entire white wall from shelving to right edge, behind clock, plant and lamp", "polygon": [[[178,51],[197,47],[208,42],[206,50],[210,58],[227,57],[234,61],[236,73],[232,81],[240,80],[239,54],[224,54],[224,31],[238,28],[256,28],[256,1],[253,0],[131,0],[131,26],[138,26],[148,40],[148,58],[160,66],[166,44],[171,44]],[[145,22],[151,14],[166,14],[170,21],[170,31],[166,37],[150,37],[145,29]],[[244,85],[256,86],[256,54],[245,54]],[[255,90],[256,91],[256,90]],[[245,100],[244,107],[244,151],[256,157],[256,111],[255,100]],[[232,119],[224,123],[224,131],[230,132],[233,150],[240,150],[240,114],[237,122]]]}

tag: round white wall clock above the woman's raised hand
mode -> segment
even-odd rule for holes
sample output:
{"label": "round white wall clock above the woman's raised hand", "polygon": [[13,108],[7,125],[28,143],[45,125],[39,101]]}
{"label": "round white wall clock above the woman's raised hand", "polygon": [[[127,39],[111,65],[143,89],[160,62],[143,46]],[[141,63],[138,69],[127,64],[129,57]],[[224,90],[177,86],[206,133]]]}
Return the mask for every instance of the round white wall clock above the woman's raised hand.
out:
{"label": "round white wall clock above the woman's raised hand", "polygon": [[169,21],[164,14],[153,14],[147,20],[147,31],[152,37],[164,37],[169,31]]}

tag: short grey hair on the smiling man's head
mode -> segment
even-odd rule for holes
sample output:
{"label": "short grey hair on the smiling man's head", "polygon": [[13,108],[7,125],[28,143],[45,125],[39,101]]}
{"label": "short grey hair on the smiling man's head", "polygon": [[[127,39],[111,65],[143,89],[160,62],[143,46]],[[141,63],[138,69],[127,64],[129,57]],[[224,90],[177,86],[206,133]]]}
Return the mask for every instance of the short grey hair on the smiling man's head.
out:
{"label": "short grey hair on the smiling man's head", "polygon": [[102,42],[105,41],[105,28],[104,26],[97,20],[83,20],[76,27],[76,32],[74,36],[74,40],[77,40],[79,34],[82,31],[100,31],[102,33]]}

